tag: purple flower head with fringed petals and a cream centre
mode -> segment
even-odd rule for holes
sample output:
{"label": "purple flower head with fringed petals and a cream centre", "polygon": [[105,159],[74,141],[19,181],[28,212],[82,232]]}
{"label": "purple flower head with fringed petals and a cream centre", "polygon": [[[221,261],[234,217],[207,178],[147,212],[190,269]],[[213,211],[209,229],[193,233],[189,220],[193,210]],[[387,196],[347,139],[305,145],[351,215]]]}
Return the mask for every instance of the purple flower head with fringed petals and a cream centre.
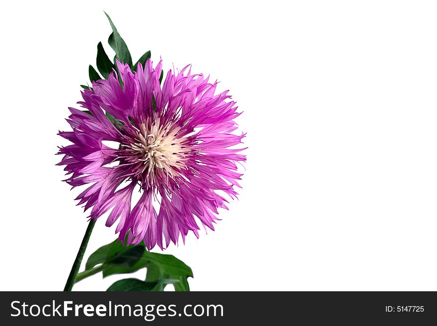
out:
{"label": "purple flower head with fringed petals and a cream centre", "polygon": [[[78,204],[92,207],[94,220],[112,209],[106,226],[119,220],[119,239],[128,234],[127,244],[144,240],[148,249],[177,244],[179,234],[185,241],[190,230],[199,237],[198,222],[214,230],[218,207],[227,209],[217,191],[238,195],[236,163],[246,159],[238,154],[244,148],[235,148],[245,134],[232,134],[239,113],[227,91],[215,94],[217,82],[188,66],[169,70],[161,88],[161,66],[148,60],[132,72],[117,62],[122,86],[115,71],[93,82],[78,102],[91,114],[69,108],[73,131],[59,132],[73,142],[58,153],[70,175],[65,181],[88,185]],[[135,188],[142,196],[131,209]]]}

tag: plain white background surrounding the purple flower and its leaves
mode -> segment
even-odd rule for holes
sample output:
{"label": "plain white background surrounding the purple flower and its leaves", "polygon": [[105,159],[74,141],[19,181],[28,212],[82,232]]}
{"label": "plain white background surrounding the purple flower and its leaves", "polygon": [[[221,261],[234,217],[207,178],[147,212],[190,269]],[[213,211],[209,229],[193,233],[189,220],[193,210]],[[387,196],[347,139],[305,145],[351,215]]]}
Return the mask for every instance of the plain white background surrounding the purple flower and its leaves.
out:
{"label": "plain white background surrounding the purple flower and its leaves", "polygon": [[[437,290],[435,2],[65,2],[1,8],[0,290],[62,290],[86,229],[56,133],[112,54],[103,10],[134,60],[192,64],[244,111],[239,200],[166,250],[192,290]],[[85,260],[114,232],[102,217]]]}

